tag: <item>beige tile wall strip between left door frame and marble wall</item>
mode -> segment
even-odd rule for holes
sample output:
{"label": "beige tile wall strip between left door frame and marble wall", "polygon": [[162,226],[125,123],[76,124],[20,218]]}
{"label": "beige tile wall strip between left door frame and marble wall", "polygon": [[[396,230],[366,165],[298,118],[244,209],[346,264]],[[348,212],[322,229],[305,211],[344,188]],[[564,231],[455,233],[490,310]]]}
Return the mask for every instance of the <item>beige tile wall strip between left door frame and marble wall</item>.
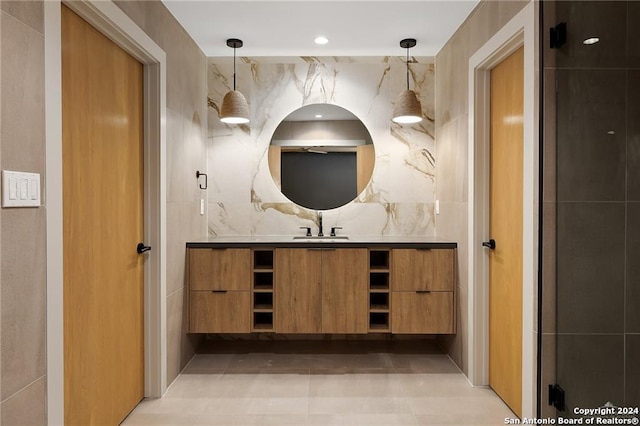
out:
{"label": "beige tile wall strip between left door frame and marble wall", "polygon": [[186,334],[185,243],[207,235],[196,170],[207,169],[207,60],[160,1],[116,1],[167,54],[167,380],[199,341]]}

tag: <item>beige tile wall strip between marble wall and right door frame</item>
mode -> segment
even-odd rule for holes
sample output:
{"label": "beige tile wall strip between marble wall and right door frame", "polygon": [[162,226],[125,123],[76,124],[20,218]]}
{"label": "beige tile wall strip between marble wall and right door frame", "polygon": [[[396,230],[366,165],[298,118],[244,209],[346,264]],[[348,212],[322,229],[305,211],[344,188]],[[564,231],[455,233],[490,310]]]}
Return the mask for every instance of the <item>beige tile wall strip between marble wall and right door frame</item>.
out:
{"label": "beige tile wall strip between marble wall and right door frame", "polygon": [[468,374],[466,321],[469,58],[529,1],[483,0],[436,55],[436,216],[438,237],[458,242],[458,333],[442,338],[449,355]]}

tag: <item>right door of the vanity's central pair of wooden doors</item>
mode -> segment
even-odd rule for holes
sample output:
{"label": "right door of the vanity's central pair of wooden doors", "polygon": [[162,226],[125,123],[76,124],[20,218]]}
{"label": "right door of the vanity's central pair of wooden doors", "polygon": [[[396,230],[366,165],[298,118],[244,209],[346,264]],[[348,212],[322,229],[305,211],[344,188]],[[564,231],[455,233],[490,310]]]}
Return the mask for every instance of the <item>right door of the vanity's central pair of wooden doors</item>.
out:
{"label": "right door of the vanity's central pair of wooden doors", "polygon": [[367,249],[322,250],[322,332],[366,333]]}

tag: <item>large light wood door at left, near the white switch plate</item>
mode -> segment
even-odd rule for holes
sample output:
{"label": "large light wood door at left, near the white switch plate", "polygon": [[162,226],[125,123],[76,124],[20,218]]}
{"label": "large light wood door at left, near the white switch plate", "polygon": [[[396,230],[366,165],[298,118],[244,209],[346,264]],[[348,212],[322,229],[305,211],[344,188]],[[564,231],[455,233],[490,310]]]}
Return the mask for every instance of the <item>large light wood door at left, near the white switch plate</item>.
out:
{"label": "large light wood door at left, near the white switch plate", "polygon": [[142,71],[62,8],[68,425],[117,425],[143,398]]}

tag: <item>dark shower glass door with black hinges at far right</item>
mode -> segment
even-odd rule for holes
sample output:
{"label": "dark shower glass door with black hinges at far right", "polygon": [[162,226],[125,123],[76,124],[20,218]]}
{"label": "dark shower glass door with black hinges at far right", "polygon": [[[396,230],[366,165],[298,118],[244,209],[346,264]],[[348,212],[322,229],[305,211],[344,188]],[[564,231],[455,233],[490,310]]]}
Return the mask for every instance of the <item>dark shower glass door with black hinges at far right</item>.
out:
{"label": "dark shower glass door with black hinges at far right", "polygon": [[[555,356],[555,383],[543,378],[541,413],[625,424],[603,421],[640,419],[640,1],[543,8],[545,41],[554,27],[557,46],[541,46],[545,149],[554,148],[545,168],[555,172],[543,185],[555,246],[543,292],[555,311],[553,297],[542,302],[543,372]],[[549,384],[564,391],[563,410],[549,411]],[[612,406],[622,410],[587,411]]]}

